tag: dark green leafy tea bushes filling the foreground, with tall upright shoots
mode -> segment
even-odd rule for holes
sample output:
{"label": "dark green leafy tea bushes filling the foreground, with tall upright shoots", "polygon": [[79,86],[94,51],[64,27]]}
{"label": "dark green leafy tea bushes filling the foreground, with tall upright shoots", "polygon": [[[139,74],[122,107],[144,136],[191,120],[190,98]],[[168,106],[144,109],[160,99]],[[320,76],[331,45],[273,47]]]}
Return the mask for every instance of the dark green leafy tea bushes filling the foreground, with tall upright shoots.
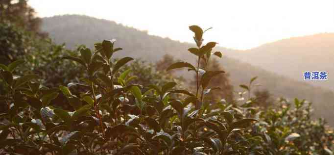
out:
{"label": "dark green leafy tea bushes filling the foreground, with tall upright shoots", "polygon": [[[86,72],[80,82],[48,88],[35,74],[15,75],[24,61],[1,64],[0,100],[6,111],[0,114],[1,154],[13,155],[332,155],[333,132],[323,120],[312,121],[310,105],[295,100],[291,106],[262,110],[248,100],[212,103],[206,98],[218,87],[210,80],[224,71],[199,68],[207,65],[217,43],[203,44],[199,26],[190,26],[197,56],[194,66],[176,62],[168,70],[186,68],[196,75],[195,92],[180,89],[179,83],[131,82],[133,60],[112,61],[120,52],[114,40],[95,44],[95,50],[79,49],[67,55]],[[208,30],[208,29],[207,29]],[[59,60],[54,60],[59,61]],[[149,72],[147,72],[149,74]],[[149,78],[149,76],[148,76]],[[147,80],[147,79],[146,79]],[[252,78],[240,85],[251,94]],[[142,80],[138,80],[142,82]],[[75,93],[73,93],[75,90]],[[244,93],[240,93],[240,99]],[[62,97],[62,98],[60,98]],[[68,103],[73,110],[54,106]]]}

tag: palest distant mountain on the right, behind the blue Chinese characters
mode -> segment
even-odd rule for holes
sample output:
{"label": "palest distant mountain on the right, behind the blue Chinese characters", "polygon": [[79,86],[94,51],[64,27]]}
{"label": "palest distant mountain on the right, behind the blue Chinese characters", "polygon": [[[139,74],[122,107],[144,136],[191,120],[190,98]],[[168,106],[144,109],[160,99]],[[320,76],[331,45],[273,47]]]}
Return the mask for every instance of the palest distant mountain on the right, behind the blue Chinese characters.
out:
{"label": "palest distant mountain on the right, behind the blue Chinese characters", "polygon": [[304,71],[327,71],[328,80],[305,82],[334,90],[334,33],[293,37],[226,54],[299,81],[304,81]]}

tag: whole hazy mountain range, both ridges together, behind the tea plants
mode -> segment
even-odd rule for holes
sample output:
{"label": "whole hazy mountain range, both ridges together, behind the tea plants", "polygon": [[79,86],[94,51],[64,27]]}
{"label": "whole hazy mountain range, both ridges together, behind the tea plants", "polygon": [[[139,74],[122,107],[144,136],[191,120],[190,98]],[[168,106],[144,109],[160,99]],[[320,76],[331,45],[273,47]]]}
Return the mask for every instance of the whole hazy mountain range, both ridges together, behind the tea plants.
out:
{"label": "whole hazy mountain range, both ridges together, behind the tea plants", "polygon": [[[43,18],[42,30],[49,33],[56,43],[66,43],[74,49],[84,44],[89,48],[104,39],[116,39],[117,47],[123,52],[116,56],[132,56],[155,62],[168,53],[175,58],[195,62],[195,57],[187,51],[193,47],[190,43],[181,43],[168,38],[148,35],[132,27],[123,26],[113,21],[96,19],[82,15],[63,15]],[[190,36],[191,37],[191,36]],[[208,39],[205,38],[204,39]],[[216,48],[223,52],[219,59],[230,74],[235,90],[239,84],[248,83],[249,79],[258,76],[262,84],[257,89],[267,89],[275,97],[299,98],[313,102],[317,117],[325,117],[334,125],[334,90],[333,80],[326,82],[306,83],[303,71],[322,70],[334,73],[334,34],[318,34],[306,37],[290,38],[262,45],[258,48],[238,51]],[[210,40],[205,40],[210,41]],[[192,78],[188,72],[182,72],[185,78]],[[322,87],[319,87],[322,86]]]}

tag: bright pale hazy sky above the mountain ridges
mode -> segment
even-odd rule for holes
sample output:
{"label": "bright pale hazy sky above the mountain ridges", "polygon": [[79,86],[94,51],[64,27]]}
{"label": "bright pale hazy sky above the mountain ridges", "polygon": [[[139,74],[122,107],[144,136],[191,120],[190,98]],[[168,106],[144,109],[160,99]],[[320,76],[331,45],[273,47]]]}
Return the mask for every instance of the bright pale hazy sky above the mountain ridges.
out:
{"label": "bright pale hazy sky above the mountain ridges", "polygon": [[[83,14],[192,42],[190,25],[222,47],[249,49],[334,32],[334,0],[29,0],[40,17]],[[112,37],[112,36],[111,36]]]}

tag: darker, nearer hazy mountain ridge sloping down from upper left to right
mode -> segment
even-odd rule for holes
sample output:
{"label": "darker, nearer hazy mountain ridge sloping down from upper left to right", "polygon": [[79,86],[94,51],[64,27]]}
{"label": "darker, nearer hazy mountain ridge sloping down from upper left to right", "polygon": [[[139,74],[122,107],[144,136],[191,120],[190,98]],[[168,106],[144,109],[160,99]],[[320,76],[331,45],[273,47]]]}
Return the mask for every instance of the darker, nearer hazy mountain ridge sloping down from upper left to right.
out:
{"label": "darker, nearer hazy mountain ridge sloping down from upper left to right", "polygon": [[[140,31],[132,27],[123,26],[121,24],[103,19],[96,19],[81,15],[54,16],[43,19],[42,30],[48,32],[49,36],[56,43],[66,43],[66,46],[69,49],[73,49],[76,45],[81,44],[84,44],[89,48],[93,48],[93,45],[96,42],[101,42],[104,39],[116,39],[116,46],[123,48],[123,51],[116,53],[116,56],[126,55],[155,62],[161,59],[164,54],[168,53],[173,55],[175,58],[180,58],[191,63],[196,61],[196,58],[187,51],[189,47],[194,46],[192,44],[181,43],[168,38],[148,35],[147,31]],[[282,49],[285,46],[285,43],[281,44],[281,48],[278,49]],[[300,46],[303,47],[302,44]],[[259,47],[259,49],[264,47],[271,47],[271,49],[275,49],[272,44],[264,45],[263,47]],[[327,120],[331,121],[331,125],[334,125],[334,120],[331,119],[334,116],[333,91],[312,86],[310,83],[283,76],[285,74],[282,73],[291,70],[291,66],[296,65],[294,61],[283,61],[286,64],[282,64],[283,62],[277,61],[281,59],[275,59],[280,58],[280,55],[272,55],[273,58],[270,59],[271,61],[262,60],[267,57],[262,56],[262,53],[260,53],[261,50],[257,50],[259,52],[256,52],[256,49],[252,49],[255,54],[253,57],[256,58],[254,58],[254,60],[250,59],[251,61],[247,62],[247,60],[245,60],[247,56],[243,56],[243,54],[252,55],[252,50],[236,51],[222,47],[216,48],[215,50],[221,51],[226,55],[222,59],[219,59],[219,61],[225,68],[225,71],[230,74],[230,79],[235,87],[235,90],[239,90],[239,84],[247,83],[250,78],[258,76],[259,78],[257,82],[261,83],[262,86],[257,89],[265,88],[269,90],[271,94],[274,94],[275,97],[286,97],[289,99],[299,98],[314,102],[313,107],[315,109],[316,116],[325,117]],[[262,49],[262,51],[266,50]],[[296,48],[294,51],[300,50]],[[289,55],[289,53],[285,52],[286,50],[273,53]],[[312,53],[314,54],[315,52],[310,52],[309,54]],[[299,52],[299,54],[300,57],[298,57],[297,60],[301,57],[308,57],[304,55],[303,51]],[[265,53],[264,55],[270,54]],[[245,62],[237,60],[237,58]],[[284,57],[282,56],[282,58]],[[265,61],[275,62],[275,69],[271,69],[270,67],[259,67],[261,64],[260,62]],[[290,65],[290,68],[280,67],[283,65]],[[298,67],[299,66],[295,66],[295,68]],[[313,70],[312,68],[307,69]],[[297,75],[299,73],[301,72],[296,72]],[[192,77],[189,72],[183,72],[183,76],[186,78]],[[303,78],[302,76],[300,77]]]}

